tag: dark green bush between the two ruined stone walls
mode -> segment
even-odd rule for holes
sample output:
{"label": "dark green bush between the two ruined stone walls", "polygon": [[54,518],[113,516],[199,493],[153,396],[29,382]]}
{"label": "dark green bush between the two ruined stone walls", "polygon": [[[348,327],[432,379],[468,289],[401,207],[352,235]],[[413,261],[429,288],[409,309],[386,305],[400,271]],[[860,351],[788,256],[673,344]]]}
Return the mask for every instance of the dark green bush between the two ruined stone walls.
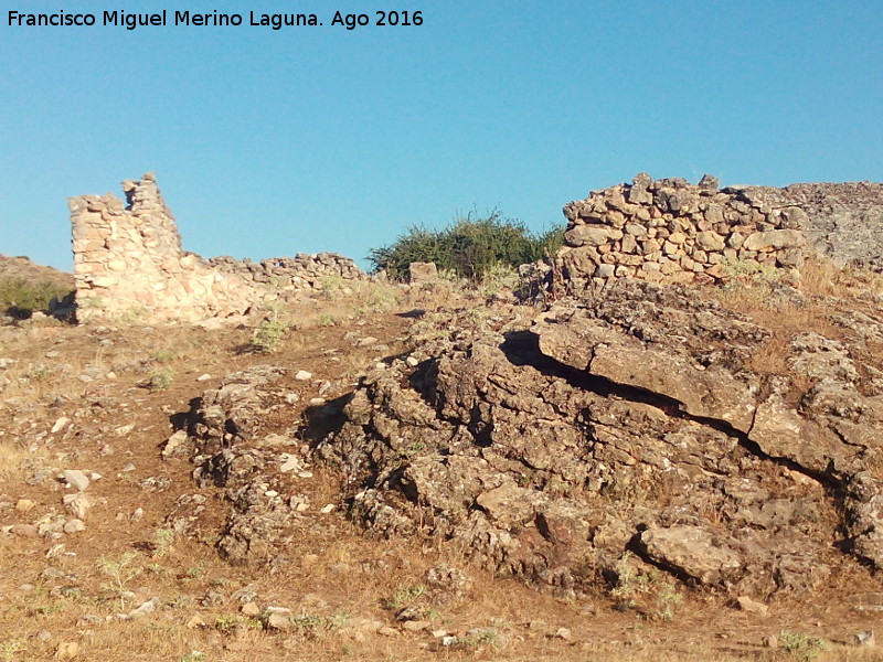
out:
{"label": "dark green bush between the two ruined stone walls", "polygon": [[385,269],[394,279],[404,278],[413,261],[432,261],[439,271],[480,280],[498,265],[518,267],[553,254],[562,233],[561,226],[532,233],[496,210],[483,218],[469,213],[440,231],[412,226],[392,245],[372,249],[368,259],[374,271]]}

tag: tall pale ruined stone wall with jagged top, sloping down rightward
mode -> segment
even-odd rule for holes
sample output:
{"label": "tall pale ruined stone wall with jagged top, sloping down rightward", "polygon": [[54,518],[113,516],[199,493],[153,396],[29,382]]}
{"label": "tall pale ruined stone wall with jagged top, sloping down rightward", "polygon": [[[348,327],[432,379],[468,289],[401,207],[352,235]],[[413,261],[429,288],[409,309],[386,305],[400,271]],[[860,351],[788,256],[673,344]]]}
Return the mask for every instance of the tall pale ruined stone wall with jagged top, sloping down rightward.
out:
{"label": "tall pale ruined stone wall with jagged top, sloping down rightward", "polygon": [[152,173],[123,182],[123,190],[127,205],[110,193],[68,201],[81,322],[231,318],[321,288],[328,278],[368,278],[353,260],[330,253],[260,263],[203,259],[182,250]]}

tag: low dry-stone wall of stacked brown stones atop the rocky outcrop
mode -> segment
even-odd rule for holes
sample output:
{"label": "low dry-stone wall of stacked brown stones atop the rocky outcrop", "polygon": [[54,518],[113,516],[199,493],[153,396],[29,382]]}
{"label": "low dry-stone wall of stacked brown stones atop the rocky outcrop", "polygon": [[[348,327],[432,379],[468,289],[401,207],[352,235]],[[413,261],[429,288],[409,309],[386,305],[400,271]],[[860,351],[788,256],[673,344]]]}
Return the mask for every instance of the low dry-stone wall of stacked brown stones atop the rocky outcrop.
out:
{"label": "low dry-stone wall of stacked brown stones atop the rocky outcrop", "polygon": [[710,282],[733,270],[764,268],[797,277],[807,214],[768,191],[719,190],[710,175],[693,185],[646,173],[631,184],[593,191],[564,206],[568,224],[554,260],[555,285],[579,289],[624,277]]}

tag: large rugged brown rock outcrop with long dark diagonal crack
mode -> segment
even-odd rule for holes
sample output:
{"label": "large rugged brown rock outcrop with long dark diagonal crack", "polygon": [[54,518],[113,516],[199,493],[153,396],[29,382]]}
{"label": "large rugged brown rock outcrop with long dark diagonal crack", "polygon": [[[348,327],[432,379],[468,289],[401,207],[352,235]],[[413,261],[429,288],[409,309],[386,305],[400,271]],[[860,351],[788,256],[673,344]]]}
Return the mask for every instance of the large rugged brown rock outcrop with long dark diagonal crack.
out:
{"label": "large rugged brown rock outcrop with long dark diagonal crack", "polygon": [[518,318],[444,320],[355,391],[319,453],[369,531],[568,595],[627,552],[734,594],[883,568],[883,373],[860,338],[798,335],[792,377],[765,374],[768,329],[634,280]]}

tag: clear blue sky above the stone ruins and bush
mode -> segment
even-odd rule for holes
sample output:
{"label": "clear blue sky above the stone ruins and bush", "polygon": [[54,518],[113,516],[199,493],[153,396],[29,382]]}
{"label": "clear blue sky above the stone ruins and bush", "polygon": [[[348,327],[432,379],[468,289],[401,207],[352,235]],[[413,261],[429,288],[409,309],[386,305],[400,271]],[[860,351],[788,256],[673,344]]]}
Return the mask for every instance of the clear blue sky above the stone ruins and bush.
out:
{"label": "clear blue sky above the stone ruins and bush", "polygon": [[[883,2],[0,0],[0,253],[71,269],[66,199],[156,171],[206,257],[362,259],[474,206],[542,229],[639,171],[883,180]],[[10,28],[63,9],[320,28]],[[331,26],[421,10],[422,26]],[[29,9],[30,8],[30,9]]]}

